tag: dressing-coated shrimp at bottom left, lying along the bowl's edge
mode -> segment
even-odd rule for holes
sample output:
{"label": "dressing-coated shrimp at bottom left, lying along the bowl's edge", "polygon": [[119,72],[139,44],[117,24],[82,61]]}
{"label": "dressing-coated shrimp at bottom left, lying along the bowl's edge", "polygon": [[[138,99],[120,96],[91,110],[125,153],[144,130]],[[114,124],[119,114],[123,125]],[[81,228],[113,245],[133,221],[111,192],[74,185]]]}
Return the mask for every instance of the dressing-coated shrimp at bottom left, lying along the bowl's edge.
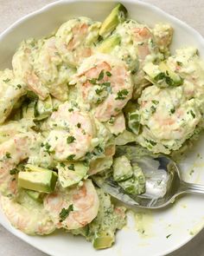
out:
{"label": "dressing-coated shrimp at bottom left, lying along the bowl's edge", "polygon": [[1,206],[3,213],[5,213],[10,224],[23,233],[29,235],[44,235],[53,233],[56,226],[48,215],[48,212],[44,210],[43,204],[37,203],[34,200],[29,203],[28,195],[27,201],[20,201],[10,199],[8,197],[1,197]]}

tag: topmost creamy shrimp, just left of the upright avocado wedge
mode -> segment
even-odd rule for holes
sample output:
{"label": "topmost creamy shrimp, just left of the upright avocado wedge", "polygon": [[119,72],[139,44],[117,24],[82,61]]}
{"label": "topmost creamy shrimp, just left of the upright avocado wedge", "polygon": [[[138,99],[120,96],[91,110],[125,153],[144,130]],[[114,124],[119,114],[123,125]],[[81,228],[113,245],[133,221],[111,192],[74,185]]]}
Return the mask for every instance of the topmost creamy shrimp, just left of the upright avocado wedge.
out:
{"label": "topmost creamy shrimp, just left of the upright avocado wedge", "polygon": [[87,17],[79,17],[61,25],[56,32],[56,47],[64,62],[77,67],[84,58],[92,55],[100,24]]}

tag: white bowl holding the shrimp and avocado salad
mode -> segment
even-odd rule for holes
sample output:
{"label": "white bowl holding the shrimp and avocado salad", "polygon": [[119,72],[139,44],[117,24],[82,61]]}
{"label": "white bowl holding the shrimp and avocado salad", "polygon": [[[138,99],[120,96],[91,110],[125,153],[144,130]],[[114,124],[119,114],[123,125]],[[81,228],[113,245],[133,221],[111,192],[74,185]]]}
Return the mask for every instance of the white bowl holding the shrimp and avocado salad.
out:
{"label": "white bowl holding the shrimp and avocado salad", "polygon": [[[89,16],[95,20],[103,20],[112,10],[115,1],[59,1],[51,3],[14,23],[0,36],[0,69],[10,67],[18,44],[26,38],[49,35],[61,23],[73,16]],[[153,26],[155,23],[168,22],[174,30],[172,51],[182,46],[195,46],[204,57],[204,40],[199,33],[169,16],[158,8],[136,0],[120,1],[124,3],[132,18],[141,23]],[[192,182],[204,181],[201,168],[204,162],[198,153],[204,156],[201,147],[203,136],[188,154],[188,159],[181,164],[185,180]],[[203,158],[203,157],[202,157]],[[194,167],[194,174],[190,170]],[[189,195],[175,202],[175,205],[162,211],[144,211],[137,213],[137,221],[130,216],[128,226],[118,232],[117,242],[112,248],[96,252],[92,245],[81,237],[58,232],[47,237],[31,237],[10,226],[10,223],[0,212],[0,223],[11,233],[25,240],[30,245],[54,256],[80,255],[92,256],[155,256],[165,255],[184,245],[194,237],[204,226],[204,204],[201,197]],[[139,220],[139,221],[138,221]],[[137,232],[144,229],[144,234]],[[170,234],[170,236],[169,236]]]}

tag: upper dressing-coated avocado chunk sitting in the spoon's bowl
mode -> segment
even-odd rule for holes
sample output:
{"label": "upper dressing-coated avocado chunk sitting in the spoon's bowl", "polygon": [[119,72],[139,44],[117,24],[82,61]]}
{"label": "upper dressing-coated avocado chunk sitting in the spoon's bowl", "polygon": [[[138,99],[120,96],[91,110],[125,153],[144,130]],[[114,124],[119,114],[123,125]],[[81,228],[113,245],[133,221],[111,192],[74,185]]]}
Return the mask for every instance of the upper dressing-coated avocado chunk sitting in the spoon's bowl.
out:
{"label": "upper dressing-coated avocado chunk sitting in the spoon's bowl", "polygon": [[113,179],[114,181],[125,181],[133,175],[131,162],[125,155],[119,156],[113,161]]}

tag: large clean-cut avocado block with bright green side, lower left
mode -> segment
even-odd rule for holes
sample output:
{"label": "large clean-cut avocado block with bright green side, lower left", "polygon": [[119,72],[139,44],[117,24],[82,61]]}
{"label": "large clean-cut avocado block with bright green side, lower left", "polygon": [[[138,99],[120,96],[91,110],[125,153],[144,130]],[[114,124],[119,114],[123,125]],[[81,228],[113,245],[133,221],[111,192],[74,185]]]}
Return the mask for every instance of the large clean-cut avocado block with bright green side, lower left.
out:
{"label": "large clean-cut avocado block with bright green side, lower left", "polygon": [[54,191],[58,175],[50,170],[19,172],[18,186],[26,189],[51,193]]}

